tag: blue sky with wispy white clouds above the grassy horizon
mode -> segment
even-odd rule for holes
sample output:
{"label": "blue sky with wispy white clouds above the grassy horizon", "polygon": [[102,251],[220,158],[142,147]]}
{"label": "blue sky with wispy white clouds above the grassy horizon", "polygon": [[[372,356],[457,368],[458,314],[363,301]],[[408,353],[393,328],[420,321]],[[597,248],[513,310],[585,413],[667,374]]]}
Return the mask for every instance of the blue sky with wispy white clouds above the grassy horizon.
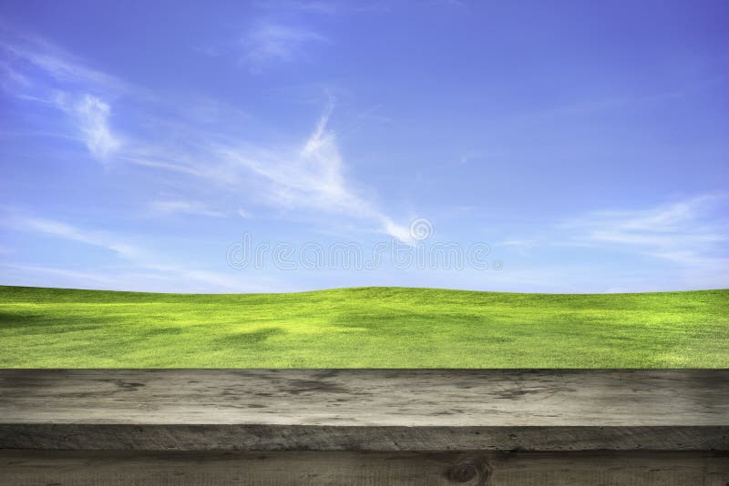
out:
{"label": "blue sky with wispy white clouds above the grassy horizon", "polygon": [[[0,283],[727,288],[728,22],[721,0],[4,2]],[[239,268],[244,238],[292,251]],[[488,245],[488,268],[302,265],[381,243]]]}

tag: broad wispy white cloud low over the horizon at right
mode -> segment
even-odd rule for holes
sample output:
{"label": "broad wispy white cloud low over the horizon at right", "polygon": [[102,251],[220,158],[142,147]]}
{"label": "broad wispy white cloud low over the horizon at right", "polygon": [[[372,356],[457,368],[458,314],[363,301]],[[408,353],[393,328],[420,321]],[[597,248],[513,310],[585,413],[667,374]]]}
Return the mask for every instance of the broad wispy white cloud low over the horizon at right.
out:
{"label": "broad wispy white cloud low over the horizon at right", "polygon": [[[495,243],[515,267],[553,267],[539,291],[577,292],[723,289],[729,286],[729,197],[704,194],[663,204],[586,212]],[[528,263],[529,267],[524,267]],[[650,268],[646,271],[645,268]],[[507,278],[499,273],[498,278]],[[528,288],[526,281],[520,289]],[[570,288],[571,286],[571,288]]]}

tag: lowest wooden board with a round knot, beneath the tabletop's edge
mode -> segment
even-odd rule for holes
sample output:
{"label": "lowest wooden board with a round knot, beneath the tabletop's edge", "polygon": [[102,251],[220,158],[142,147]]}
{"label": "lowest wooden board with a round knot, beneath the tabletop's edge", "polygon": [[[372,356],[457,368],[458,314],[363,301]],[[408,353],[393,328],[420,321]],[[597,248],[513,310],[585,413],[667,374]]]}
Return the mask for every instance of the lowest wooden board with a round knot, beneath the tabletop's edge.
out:
{"label": "lowest wooden board with a round knot, beneath the tabletop's edge", "polygon": [[725,452],[0,451],[24,486],[725,486]]}

